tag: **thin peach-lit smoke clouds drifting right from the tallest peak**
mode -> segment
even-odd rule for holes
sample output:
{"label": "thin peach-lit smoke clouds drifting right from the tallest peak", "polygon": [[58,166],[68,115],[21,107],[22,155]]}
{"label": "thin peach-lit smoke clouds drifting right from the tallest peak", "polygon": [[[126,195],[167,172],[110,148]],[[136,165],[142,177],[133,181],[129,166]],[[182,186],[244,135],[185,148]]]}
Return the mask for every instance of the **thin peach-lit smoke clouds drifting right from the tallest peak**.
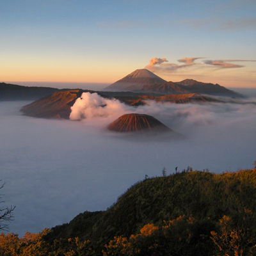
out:
{"label": "thin peach-lit smoke clouds drifting right from the tallest peak", "polygon": [[149,64],[145,67],[151,72],[175,72],[179,68],[205,68],[205,67],[214,67],[214,68],[243,68],[243,65],[237,65],[230,62],[240,62],[240,61],[256,61],[256,60],[204,60],[203,62],[196,62],[196,60],[205,59],[202,57],[193,57],[193,58],[182,58],[179,61],[184,63],[182,65],[177,65],[175,63],[165,63],[168,62],[166,58],[152,58],[149,61]]}

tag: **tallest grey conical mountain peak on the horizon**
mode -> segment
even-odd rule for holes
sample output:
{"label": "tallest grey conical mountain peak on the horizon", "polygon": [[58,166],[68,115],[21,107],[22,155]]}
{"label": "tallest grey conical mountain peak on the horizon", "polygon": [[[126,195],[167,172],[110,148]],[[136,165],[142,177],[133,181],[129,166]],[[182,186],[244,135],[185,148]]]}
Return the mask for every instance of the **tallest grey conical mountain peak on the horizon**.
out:
{"label": "tallest grey conical mountain peak on the horizon", "polygon": [[155,83],[166,83],[164,79],[159,76],[156,76],[154,73],[149,70],[137,69],[128,76],[116,81],[113,84],[110,84],[103,91],[109,92],[127,92],[133,90],[140,90],[141,87],[145,84],[155,84]]}

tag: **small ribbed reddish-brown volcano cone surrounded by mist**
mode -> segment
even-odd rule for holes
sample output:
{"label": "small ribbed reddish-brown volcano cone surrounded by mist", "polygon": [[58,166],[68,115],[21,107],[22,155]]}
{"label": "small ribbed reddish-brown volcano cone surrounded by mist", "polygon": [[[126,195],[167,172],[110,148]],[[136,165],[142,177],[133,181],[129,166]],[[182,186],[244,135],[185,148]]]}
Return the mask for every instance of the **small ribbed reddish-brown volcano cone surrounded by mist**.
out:
{"label": "small ribbed reddish-brown volcano cone surrounded by mist", "polygon": [[120,116],[107,127],[115,132],[170,132],[166,125],[161,123],[154,116],[145,114],[126,114]]}

